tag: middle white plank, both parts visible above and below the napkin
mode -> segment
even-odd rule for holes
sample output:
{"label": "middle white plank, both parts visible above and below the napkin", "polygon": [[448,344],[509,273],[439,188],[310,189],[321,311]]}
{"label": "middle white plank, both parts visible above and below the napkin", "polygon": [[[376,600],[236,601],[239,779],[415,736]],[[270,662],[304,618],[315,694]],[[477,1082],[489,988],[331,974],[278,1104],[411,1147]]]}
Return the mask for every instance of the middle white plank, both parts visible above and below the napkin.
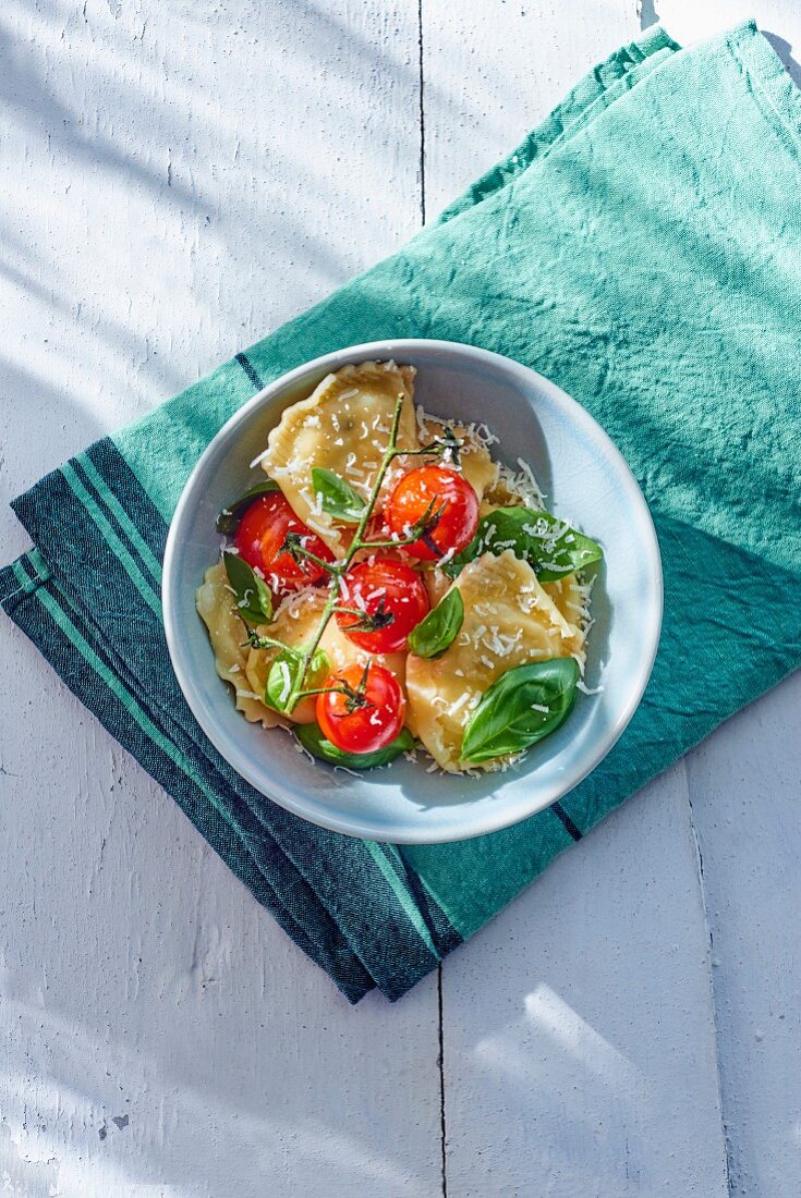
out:
{"label": "middle white plank, both parts visible above and below the napkin", "polygon": [[[622,2],[423,17],[432,214],[639,28]],[[446,962],[444,1012],[450,1194],[728,1192],[683,767]]]}

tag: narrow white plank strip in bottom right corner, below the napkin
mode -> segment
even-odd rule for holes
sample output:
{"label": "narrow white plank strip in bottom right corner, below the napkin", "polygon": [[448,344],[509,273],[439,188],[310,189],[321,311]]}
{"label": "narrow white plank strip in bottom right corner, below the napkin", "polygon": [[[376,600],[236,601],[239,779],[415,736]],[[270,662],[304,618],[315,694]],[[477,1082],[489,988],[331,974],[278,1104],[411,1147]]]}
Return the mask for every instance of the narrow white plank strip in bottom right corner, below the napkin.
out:
{"label": "narrow white plank strip in bottom right corner, below the napkin", "polygon": [[712,934],[731,1190],[801,1193],[801,674],[687,762]]}

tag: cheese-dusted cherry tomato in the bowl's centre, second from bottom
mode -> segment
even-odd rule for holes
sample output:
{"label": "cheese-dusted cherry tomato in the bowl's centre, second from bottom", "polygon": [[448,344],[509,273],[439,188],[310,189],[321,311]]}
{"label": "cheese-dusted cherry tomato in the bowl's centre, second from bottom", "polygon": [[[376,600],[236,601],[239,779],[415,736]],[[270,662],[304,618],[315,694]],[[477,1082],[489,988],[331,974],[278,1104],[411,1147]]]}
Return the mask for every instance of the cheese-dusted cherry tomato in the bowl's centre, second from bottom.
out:
{"label": "cheese-dusted cherry tomato in the bowl's centre, second from bottom", "polygon": [[403,562],[380,557],[354,565],[344,576],[337,624],[368,653],[405,649],[412,628],[428,613],[428,592]]}

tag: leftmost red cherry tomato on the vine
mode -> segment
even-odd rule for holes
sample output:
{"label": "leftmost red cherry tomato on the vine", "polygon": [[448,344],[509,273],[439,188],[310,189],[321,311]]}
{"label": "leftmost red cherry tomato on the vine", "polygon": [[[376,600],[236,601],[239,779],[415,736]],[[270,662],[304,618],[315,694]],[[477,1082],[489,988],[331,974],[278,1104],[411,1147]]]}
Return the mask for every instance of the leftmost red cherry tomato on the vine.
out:
{"label": "leftmost red cherry tomato on the vine", "polygon": [[283,549],[287,534],[300,538],[300,545],[324,562],[332,562],[333,555],[302,520],[295,515],[281,491],[260,495],[251,503],[240,520],[234,545],[248,565],[261,570],[276,591],[297,591],[299,587],[319,582],[326,574],[323,565],[303,558],[297,559]]}

